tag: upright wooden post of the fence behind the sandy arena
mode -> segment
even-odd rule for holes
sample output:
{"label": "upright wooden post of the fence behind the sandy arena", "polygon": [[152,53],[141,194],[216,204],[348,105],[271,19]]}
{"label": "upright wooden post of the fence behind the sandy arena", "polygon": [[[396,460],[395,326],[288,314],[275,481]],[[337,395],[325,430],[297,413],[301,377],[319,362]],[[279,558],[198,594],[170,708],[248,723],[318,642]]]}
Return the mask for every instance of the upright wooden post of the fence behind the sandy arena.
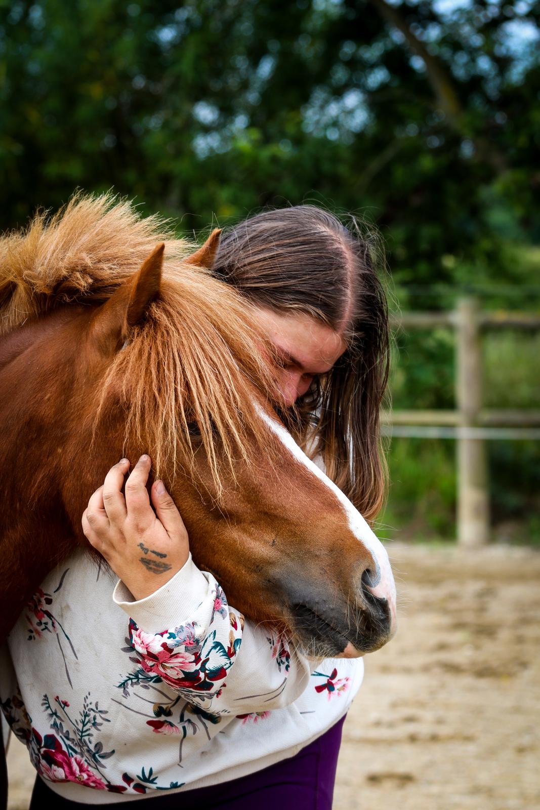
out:
{"label": "upright wooden post of the fence behind the sandy arena", "polygon": [[[478,425],[482,407],[482,356],[478,304],[463,298],[456,312],[456,400],[463,428]],[[487,451],[483,439],[457,439],[457,540],[468,548],[489,541]]]}

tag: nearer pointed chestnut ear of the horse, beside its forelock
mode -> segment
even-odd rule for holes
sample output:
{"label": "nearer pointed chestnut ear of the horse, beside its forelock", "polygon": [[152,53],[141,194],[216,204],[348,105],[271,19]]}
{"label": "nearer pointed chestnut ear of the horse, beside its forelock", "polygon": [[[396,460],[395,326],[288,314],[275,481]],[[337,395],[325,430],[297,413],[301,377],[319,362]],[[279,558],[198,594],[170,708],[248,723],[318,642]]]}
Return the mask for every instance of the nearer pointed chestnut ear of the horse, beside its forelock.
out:
{"label": "nearer pointed chestnut ear of the horse, beside its forelock", "polygon": [[142,321],[148,306],[158,295],[164,249],[164,242],[157,245],[139,270],[97,309],[92,332],[104,352],[115,352],[125,343],[130,328]]}

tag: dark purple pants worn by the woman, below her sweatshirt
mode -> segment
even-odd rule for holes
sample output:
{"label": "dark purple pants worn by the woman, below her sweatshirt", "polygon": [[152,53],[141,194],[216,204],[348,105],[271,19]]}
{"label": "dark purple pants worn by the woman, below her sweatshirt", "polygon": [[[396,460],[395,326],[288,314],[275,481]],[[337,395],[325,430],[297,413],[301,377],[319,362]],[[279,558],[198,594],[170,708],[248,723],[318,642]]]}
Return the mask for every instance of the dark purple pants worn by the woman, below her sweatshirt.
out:
{"label": "dark purple pants worn by the woman, below her sweatshirt", "polygon": [[[125,806],[140,806],[142,810],[331,810],[344,720],[343,717],[294,757],[257,770],[255,774],[195,791],[152,796]],[[118,810],[121,804],[100,804],[100,808]],[[61,799],[47,782],[39,776],[36,778],[30,810],[87,806]]]}

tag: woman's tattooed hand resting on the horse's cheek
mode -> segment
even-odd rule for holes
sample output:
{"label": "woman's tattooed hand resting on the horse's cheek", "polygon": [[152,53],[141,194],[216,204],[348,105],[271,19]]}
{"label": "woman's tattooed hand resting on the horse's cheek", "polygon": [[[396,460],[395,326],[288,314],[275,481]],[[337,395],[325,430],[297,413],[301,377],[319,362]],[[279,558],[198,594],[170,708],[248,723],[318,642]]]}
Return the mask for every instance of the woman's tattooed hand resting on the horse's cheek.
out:
{"label": "woman's tattooed hand resting on the horse's cheek", "polygon": [[189,556],[188,533],[163,481],[151,488],[155,512],[151,508],[146,487],[150,468],[150,457],[142,455],[125,482],[124,497],[130,462],[122,458],[83,513],[87,539],[137,600],[168,582]]}

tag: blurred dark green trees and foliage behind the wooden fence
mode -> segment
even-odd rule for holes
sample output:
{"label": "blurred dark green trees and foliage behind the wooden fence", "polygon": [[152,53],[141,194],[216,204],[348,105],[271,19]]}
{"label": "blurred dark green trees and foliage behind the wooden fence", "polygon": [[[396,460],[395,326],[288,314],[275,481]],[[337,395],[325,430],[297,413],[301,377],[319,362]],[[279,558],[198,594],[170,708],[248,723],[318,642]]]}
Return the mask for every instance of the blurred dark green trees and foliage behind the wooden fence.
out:
{"label": "blurred dark green trees and foliage behind the wooden fence", "polygon": [[[540,311],[538,2],[4,0],[0,77],[2,229],[77,186],[192,234],[309,201],[380,229],[394,311]],[[483,407],[538,407],[538,330],[481,352]],[[396,330],[393,408],[452,410],[455,355]],[[456,441],[402,432],[380,528],[453,539]],[[540,543],[534,435],[486,441],[491,540]]]}

